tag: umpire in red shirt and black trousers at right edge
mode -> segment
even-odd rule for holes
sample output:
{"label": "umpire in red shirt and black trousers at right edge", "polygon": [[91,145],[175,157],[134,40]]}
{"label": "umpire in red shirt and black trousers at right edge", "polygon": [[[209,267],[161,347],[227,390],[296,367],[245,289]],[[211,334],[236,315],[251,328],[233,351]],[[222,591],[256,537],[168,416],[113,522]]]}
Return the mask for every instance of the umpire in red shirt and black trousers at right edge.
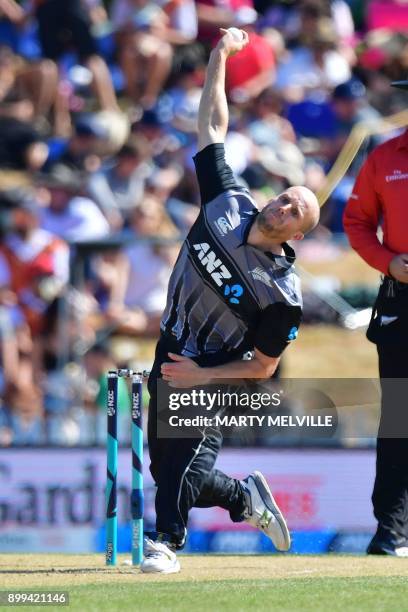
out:
{"label": "umpire in red shirt and black trousers at right edge", "polygon": [[[392,85],[408,89],[408,80]],[[408,556],[407,193],[408,130],[368,156],[344,213],[352,247],[384,275],[367,331],[377,345],[382,391],[372,495],[378,527],[367,553],[399,557]]]}

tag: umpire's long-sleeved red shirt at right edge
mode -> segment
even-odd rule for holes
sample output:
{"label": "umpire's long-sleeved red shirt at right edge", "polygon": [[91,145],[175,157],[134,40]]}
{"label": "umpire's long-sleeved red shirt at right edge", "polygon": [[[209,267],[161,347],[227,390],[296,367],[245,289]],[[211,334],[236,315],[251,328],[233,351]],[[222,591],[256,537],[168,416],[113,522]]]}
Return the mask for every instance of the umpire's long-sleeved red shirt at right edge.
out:
{"label": "umpire's long-sleeved red shirt at right edge", "polygon": [[[408,253],[408,130],[368,156],[343,222],[353,249],[384,274],[395,255]],[[377,238],[379,225],[383,243]]]}

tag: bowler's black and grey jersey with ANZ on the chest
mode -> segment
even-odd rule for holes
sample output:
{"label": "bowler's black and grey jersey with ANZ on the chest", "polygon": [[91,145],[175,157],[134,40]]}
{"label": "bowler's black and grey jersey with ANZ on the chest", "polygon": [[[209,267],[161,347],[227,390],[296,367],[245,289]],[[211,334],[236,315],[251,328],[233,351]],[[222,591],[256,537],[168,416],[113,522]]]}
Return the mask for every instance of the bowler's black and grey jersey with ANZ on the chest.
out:
{"label": "bowler's black and grey jersey with ANZ on the chest", "polygon": [[278,357],[301,319],[295,253],[265,253],[247,244],[258,209],[237,185],[223,144],[194,158],[201,194],[169,282],[162,333],[201,365],[225,363],[254,348]]}

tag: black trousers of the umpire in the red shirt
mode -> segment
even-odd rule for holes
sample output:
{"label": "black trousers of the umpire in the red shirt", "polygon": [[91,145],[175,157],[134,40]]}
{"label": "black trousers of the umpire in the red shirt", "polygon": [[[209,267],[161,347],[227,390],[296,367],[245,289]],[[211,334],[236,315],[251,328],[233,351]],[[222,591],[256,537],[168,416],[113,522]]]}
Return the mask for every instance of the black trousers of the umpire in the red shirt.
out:
{"label": "black trousers of the umpire in the red shirt", "polygon": [[374,515],[381,530],[408,538],[408,285],[384,279],[367,336],[377,344],[382,391]]}

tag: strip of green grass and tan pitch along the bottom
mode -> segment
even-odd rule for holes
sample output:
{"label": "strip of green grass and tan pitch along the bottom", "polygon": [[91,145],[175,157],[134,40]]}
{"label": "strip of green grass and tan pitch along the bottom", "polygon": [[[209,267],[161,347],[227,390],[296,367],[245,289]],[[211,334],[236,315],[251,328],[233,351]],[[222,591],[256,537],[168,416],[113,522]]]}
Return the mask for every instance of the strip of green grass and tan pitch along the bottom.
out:
{"label": "strip of green grass and tan pitch along the bottom", "polygon": [[183,555],[180,559],[180,574],[149,576],[124,566],[123,558],[116,568],[105,568],[97,555],[2,555],[0,588],[65,590],[70,597],[67,609],[81,611],[408,610],[408,559],[346,555]]}

